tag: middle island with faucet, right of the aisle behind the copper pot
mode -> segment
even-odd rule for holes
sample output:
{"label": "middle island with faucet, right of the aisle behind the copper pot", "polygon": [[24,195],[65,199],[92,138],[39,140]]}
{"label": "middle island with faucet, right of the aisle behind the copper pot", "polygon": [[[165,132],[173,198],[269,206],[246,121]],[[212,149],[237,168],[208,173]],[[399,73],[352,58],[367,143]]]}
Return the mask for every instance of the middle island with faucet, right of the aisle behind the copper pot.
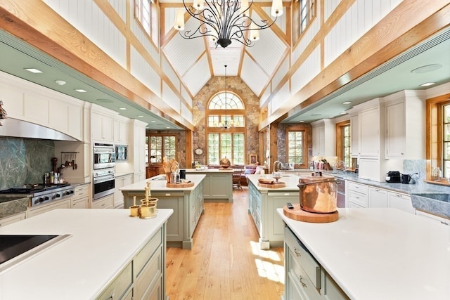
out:
{"label": "middle island with faucet, right of the aisle behind the copper pot", "polygon": [[[278,218],[276,209],[286,205],[286,202],[299,203],[300,189],[297,187],[299,176],[291,174],[281,177],[280,182],[285,183],[283,188],[264,188],[258,185],[262,175],[248,175],[248,213],[252,215],[259,233],[259,247],[283,246],[283,221]],[[263,175],[272,178],[271,175]]]}

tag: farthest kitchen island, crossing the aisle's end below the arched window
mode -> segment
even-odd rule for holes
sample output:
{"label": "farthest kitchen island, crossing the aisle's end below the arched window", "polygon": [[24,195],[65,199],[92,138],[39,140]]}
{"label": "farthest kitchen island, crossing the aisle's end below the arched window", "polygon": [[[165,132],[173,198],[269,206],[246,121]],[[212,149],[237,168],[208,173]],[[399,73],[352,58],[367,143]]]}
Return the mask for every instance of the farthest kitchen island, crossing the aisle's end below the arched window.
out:
{"label": "farthest kitchen island, crossing the aisle's end below the arched window", "polygon": [[233,168],[186,169],[186,176],[203,174],[203,199],[207,202],[233,202]]}

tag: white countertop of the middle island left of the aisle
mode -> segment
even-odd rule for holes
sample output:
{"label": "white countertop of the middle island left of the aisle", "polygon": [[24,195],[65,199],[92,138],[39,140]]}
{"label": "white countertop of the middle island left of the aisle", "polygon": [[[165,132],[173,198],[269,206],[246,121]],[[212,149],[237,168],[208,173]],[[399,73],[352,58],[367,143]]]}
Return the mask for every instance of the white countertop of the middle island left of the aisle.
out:
{"label": "white countertop of the middle island left of the aisle", "polygon": [[139,190],[143,191],[144,188],[147,186],[147,183],[150,183],[150,193],[153,190],[158,191],[171,191],[174,192],[176,190],[183,191],[183,190],[195,190],[195,188],[198,186],[200,182],[203,181],[205,178],[205,174],[186,174],[186,181],[191,181],[194,183],[192,187],[186,187],[186,188],[167,188],[166,183],[166,176],[165,174],[154,176],[151,178],[146,179],[145,181],[139,181],[130,185],[126,185],[123,188],[120,188],[119,190]]}

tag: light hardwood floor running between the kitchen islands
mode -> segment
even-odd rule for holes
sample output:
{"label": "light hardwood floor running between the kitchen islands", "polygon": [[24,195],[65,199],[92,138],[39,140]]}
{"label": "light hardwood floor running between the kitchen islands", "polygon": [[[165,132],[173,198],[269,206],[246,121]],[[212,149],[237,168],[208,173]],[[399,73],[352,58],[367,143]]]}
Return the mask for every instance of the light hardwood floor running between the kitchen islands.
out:
{"label": "light hardwood floor running between the kitchen islands", "polygon": [[248,188],[233,191],[233,203],[205,203],[193,249],[167,248],[170,300],[280,299],[284,289],[283,248],[261,250]]}

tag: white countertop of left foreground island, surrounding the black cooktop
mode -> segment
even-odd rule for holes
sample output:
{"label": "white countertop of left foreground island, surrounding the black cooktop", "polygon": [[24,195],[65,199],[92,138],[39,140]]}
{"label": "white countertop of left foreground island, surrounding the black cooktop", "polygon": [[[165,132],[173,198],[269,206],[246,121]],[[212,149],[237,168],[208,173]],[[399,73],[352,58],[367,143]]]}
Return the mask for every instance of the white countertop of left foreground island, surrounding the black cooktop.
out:
{"label": "white countertop of left foreground island, surrounding the black cooktop", "polygon": [[129,209],[56,209],[0,228],[0,235],[72,235],[0,275],[0,299],[95,299],[169,219]]}

